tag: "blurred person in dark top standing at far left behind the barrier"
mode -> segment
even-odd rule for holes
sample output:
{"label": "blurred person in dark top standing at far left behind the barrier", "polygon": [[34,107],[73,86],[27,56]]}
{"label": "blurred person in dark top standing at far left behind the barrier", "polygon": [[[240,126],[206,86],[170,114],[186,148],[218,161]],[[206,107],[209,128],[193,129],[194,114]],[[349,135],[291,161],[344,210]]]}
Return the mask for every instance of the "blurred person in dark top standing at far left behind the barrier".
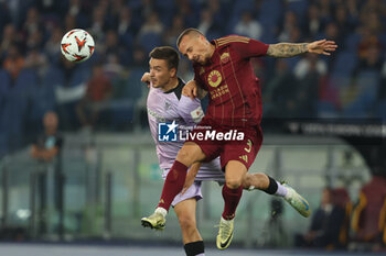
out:
{"label": "blurred person in dark top standing at far left behind the barrier", "polygon": [[31,156],[37,160],[51,162],[58,155],[63,138],[57,132],[58,119],[55,112],[46,112],[43,118],[44,132],[31,147]]}

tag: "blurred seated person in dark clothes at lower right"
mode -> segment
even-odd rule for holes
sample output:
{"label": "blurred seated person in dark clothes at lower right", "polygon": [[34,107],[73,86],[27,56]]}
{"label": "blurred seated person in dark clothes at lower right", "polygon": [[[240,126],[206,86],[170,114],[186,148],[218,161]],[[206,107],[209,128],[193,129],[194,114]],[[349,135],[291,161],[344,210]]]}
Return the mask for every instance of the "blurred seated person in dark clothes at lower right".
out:
{"label": "blurred seated person in dark clothes at lower right", "polygon": [[311,226],[305,234],[296,235],[296,245],[301,247],[324,247],[339,245],[339,233],[344,222],[344,210],[333,204],[331,188],[324,188],[320,208],[312,215]]}

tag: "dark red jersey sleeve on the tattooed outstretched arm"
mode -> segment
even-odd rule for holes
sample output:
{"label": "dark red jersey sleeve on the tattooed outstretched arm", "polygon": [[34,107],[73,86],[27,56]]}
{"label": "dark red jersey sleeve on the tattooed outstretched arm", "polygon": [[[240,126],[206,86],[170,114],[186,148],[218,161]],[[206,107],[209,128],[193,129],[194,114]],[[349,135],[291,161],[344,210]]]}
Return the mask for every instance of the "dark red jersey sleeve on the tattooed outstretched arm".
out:
{"label": "dark red jersey sleeve on the tattooed outstretched arm", "polygon": [[265,56],[267,54],[268,44],[260,41],[239,36],[243,40],[232,43],[232,47],[240,55],[242,58],[251,58]]}

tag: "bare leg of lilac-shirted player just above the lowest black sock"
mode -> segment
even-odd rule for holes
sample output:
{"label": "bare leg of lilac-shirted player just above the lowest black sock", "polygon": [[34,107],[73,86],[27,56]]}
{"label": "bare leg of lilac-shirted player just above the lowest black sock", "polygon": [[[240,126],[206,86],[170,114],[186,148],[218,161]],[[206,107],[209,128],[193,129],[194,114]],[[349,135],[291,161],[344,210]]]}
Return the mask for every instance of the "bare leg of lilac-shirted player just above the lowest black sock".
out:
{"label": "bare leg of lilac-shirted player just above the lowest black sock", "polygon": [[174,205],[174,212],[179,219],[181,230],[196,229],[196,205],[197,201],[195,198],[183,200]]}

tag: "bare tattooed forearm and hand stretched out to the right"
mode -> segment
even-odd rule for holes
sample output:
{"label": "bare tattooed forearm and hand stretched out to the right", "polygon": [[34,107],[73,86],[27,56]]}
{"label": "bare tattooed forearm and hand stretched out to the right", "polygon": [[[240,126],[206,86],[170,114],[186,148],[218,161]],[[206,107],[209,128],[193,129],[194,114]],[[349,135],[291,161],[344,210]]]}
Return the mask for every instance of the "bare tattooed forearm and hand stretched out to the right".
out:
{"label": "bare tattooed forearm and hand stretched out to the right", "polygon": [[330,55],[330,52],[334,52],[337,45],[333,41],[320,40],[312,43],[279,43],[270,44],[267,51],[267,55],[278,58],[293,57],[304,53]]}

